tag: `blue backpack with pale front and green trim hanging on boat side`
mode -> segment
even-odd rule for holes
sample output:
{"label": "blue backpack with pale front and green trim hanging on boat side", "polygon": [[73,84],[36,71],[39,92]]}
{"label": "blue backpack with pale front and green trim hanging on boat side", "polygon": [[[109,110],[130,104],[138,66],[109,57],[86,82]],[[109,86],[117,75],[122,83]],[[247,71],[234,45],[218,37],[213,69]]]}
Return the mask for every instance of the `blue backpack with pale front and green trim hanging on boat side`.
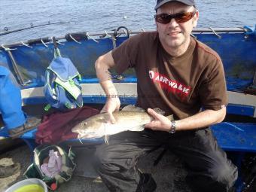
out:
{"label": "blue backpack with pale front and green trim hanging on boat side", "polygon": [[83,97],[81,93],[81,75],[69,58],[62,57],[57,47],[54,48],[54,59],[45,72],[44,96],[50,107],[65,111],[70,108],[81,108]]}

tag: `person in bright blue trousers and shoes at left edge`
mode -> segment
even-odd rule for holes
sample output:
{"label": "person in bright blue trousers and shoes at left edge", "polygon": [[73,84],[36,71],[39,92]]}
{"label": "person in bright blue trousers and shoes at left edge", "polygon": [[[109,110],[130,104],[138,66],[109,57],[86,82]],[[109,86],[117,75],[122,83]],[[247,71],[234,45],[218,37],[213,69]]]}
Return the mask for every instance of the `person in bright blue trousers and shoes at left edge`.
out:
{"label": "person in bright blue trousers and shoes at left edge", "polygon": [[[11,138],[17,138],[40,123],[35,117],[26,118],[21,108],[20,87],[11,72],[0,66],[0,114]],[[20,164],[0,165],[0,178],[14,175],[20,170]]]}

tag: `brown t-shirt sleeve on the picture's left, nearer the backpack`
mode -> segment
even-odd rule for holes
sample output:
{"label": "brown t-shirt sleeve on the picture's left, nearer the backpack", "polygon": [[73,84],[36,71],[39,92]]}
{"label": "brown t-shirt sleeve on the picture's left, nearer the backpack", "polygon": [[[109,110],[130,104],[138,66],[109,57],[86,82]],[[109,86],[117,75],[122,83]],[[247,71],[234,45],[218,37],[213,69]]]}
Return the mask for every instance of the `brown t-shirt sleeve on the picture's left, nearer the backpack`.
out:
{"label": "brown t-shirt sleeve on the picture's left, nearer the backpack", "polygon": [[141,35],[128,38],[119,47],[112,50],[115,70],[122,74],[126,69],[136,66],[136,59],[139,54],[139,41]]}

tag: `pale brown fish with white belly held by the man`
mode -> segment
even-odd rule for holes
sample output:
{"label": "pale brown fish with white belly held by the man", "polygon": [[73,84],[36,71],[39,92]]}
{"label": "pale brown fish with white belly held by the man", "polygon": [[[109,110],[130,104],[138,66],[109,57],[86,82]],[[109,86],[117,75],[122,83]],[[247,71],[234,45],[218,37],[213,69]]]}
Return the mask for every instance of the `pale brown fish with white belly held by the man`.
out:
{"label": "pale brown fish with white belly held by the man", "polygon": [[[154,108],[158,114],[164,114],[160,108]],[[108,143],[108,136],[121,133],[123,131],[142,131],[147,123],[154,120],[143,108],[135,105],[126,105],[121,111],[113,113],[115,123],[108,122],[108,114],[96,114],[86,120],[81,121],[72,128],[73,133],[78,133],[78,139],[97,139],[105,136]],[[173,120],[173,115],[167,116]]]}

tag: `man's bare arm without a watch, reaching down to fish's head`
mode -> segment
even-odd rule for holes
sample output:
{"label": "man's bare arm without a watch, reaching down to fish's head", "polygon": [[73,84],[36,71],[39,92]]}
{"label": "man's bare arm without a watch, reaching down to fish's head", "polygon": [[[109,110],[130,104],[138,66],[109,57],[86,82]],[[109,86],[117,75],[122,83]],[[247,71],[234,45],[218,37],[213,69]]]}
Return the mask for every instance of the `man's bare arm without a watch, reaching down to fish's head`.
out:
{"label": "man's bare arm without a watch, reaching down to fish's head", "polygon": [[108,113],[109,120],[111,123],[114,123],[115,120],[112,113],[120,108],[120,99],[118,98],[117,90],[111,80],[111,74],[108,71],[108,69],[112,67],[114,67],[114,59],[111,51],[105,55],[99,56],[95,62],[97,78],[107,96],[107,102],[101,112]]}

